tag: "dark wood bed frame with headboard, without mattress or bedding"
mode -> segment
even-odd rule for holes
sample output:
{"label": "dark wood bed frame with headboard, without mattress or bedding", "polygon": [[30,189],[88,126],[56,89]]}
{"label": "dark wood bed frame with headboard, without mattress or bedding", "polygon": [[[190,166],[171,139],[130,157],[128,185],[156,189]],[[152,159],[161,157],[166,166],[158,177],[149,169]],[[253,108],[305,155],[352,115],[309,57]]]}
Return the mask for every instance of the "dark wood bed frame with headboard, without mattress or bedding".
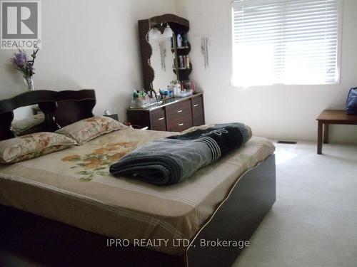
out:
{"label": "dark wood bed frame with headboard, without mattress or bedding", "polygon": [[[13,110],[39,104],[44,130],[93,116],[94,90],[38,90],[0,100],[0,140],[14,137]],[[146,248],[108,247],[106,236],[0,205],[0,266],[231,266],[241,248],[201,239],[248,241],[276,200],[275,156],[241,175],[181,257]],[[131,229],[128,229],[130,231]]]}

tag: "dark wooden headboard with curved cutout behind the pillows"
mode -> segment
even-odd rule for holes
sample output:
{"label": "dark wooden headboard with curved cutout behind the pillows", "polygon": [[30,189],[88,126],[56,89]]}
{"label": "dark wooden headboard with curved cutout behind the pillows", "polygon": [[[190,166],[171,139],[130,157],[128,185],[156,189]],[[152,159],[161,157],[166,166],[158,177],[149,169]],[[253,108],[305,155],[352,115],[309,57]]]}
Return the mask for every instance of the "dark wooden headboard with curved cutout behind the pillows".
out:
{"label": "dark wooden headboard with curved cutout behind the pillows", "polygon": [[11,128],[14,110],[29,105],[39,105],[44,112],[41,132],[54,132],[71,123],[93,117],[96,93],[94,90],[34,90],[0,100],[0,140],[15,137]]}

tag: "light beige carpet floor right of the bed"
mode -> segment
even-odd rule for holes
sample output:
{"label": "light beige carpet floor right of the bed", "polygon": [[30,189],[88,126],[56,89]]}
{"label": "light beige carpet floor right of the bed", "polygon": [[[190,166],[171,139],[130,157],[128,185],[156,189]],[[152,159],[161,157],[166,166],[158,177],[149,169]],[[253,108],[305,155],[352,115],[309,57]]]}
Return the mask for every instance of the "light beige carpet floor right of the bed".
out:
{"label": "light beige carpet floor right of the bed", "polygon": [[357,145],[276,147],[276,203],[233,266],[356,267]]}

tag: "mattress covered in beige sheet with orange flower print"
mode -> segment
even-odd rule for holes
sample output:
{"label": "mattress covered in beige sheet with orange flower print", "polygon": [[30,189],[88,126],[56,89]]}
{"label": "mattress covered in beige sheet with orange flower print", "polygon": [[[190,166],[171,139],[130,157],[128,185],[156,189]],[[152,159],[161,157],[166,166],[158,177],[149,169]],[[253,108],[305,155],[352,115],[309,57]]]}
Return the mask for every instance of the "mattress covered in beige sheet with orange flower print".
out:
{"label": "mattress covered in beige sheet with orange flower print", "polygon": [[[146,144],[172,135],[126,129],[80,147],[0,165],[0,204],[61,221],[86,231],[182,255],[181,239],[191,240],[246,170],[271,155],[275,147],[252,137],[239,150],[199,169],[179,184],[155,186],[113,177],[113,162]],[[150,246],[152,244],[152,246]]]}

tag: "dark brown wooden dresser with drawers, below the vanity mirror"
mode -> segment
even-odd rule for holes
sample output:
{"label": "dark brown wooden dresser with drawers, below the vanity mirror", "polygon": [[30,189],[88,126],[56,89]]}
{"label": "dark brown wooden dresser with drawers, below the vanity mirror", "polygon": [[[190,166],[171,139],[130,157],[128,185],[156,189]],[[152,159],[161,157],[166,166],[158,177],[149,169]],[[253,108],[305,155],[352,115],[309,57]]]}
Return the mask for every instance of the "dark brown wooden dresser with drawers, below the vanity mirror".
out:
{"label": "dark brown wooden dresser with drawers, below the vanity mirror", "polygon": [[203,93],[170,98],[149,108],[129,108],[126,112],[131,125],[156,131],[181,132],[204,124]]}

